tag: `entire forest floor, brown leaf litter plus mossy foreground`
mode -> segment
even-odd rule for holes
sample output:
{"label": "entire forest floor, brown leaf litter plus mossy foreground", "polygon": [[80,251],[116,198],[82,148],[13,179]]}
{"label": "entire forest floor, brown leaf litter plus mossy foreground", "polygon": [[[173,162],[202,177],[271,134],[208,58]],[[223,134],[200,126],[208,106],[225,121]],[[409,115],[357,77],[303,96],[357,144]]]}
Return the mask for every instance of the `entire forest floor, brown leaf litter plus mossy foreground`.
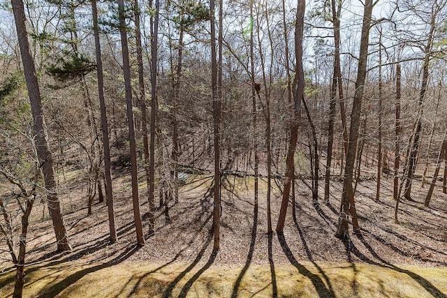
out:
{"label": "entire forest floor, brown leaf litter plus mossy foreground", "polygon": [[[67,190],[73,189],[68,186],[77,183],[77,176],[67,178]],[[400,204],[396,224],[393,180],[383,177],[380,202],[374,200],[376,181],[360,181],[356,207],[361,234],[340,241],[335,230],[342,182],[332,181],[330,204],[316,208],[310,181],[298,181],[297,221],[289,205],[284,234],[269,236],[265,181],[260,183],[256,215],[254,179],[228,177],[221,193],[221,243],[216,253],[210,233],[212,197],[207,195],[212,178],[190,176],[186,182],[179,202],[170,204],[169,218],[163,210],[156,211],[156,232],[142,247],[135,246],[130,177],[114,179],[116,244],[108,241],[105,204],[96,202],[93,215],[87,216],[85,200],[75,200],[82,197],[77,188],[63,198],[64,209],[70,210],[64,218],[73,251],[54,252],[51,221],[45,205],[37,205],[29,229],[25,296],[28,289],[33,297],[447,297],[447,195],[440,186],[427,208],[427,188],[416,181],[415,202]],[[140,190],[147,232],[143,181]],[[273,230],[280,201],[274,188]],[[5,273],[0,275],[0,296],[12,291],[13,272],[7,269],[11,265],[1,265]]]}

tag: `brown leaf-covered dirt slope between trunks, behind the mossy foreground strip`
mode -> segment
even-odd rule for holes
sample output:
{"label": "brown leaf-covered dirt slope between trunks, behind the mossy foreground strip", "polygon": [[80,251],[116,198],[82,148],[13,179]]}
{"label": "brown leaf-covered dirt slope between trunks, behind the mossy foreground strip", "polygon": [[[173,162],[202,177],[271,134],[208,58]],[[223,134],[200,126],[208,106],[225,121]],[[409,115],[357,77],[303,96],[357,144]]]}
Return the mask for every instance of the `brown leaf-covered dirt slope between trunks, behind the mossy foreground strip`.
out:
{"label": "brown leaf-covered dirt slope between trunks, behind the mossy foreground strip", "polygon": [[[55,253],[54,234],[50,219],[36,205],[34,222],[30,225],[27,262],[50,260],[84,260],[91,262],[131,262],[147,260],[156,264],[182,262],[225,267],[249,265],[297,265],[301,261],[367,262],[386,267],[418,265],[423,267],[447,266],[447,195],[437,186],[430,208],[423,207],[426,188],[420,182],[413,184],[413,199],[400,204],[400,224],[395,224],[392,198],[392,179],[383,177],[381,200],[375,202],[376,181],[360,181],[356,193],[356,207],[362,232],[351,234],[349,241],[335,237],[342,183],[332,181],[330,204],[312,204],[307,184],[298,181],[295,186],[297,223],[288,207],[284,234],[268,236],[266,217],[266,186],[262,182],[258,214],[254,215],[253,178],[228,177],[222,188],[221,247],[212,254],[212,197],[206,195],[211,178],[189,177],[180,188],[179,202],[170,204],[169,221],[163,210],[156,211],[156,232],[147,237],[146,245],[135,246],[130,177],[117,177],[115,183],[115,216],[119,241],[108,241],[108,216],[104,203],[95,202],[93,215],[87,216],[87,202],[82,194],[73,191],[66,182],[64,209],[73,251]],[[320,181],[320,195],[323,195]],[[273,230],[277,223],[280,196],[272,192]],[[147,199],[145,185],[140,188],[141,212],[147,232]],[[158,202],[156,202],[158,205]],[[43,219],[41,218],[43,215]],[[256,223],[256,225],[254,225]],[[351,227],[350,227],[351,228]],[[3,268],[12,264],[4,264]]]}

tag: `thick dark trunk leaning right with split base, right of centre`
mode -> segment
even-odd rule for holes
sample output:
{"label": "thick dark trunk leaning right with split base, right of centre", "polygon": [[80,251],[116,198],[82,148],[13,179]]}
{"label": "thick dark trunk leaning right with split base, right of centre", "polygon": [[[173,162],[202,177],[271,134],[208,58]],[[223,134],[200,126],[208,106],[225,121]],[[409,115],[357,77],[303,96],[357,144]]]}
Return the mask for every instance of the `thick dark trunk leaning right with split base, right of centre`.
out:
{"label": "thick dark trunk leaning right with split base, right of centre", "polygon": [[368,58],[369,29],[371,28],[371,16],[373,7],[374,4],[372,0],[365,1],[362,35],[360,37],[360,54],[358,58],[356,91],[354,93],[354,102],[351,112],[351,127],[349,130],[348,152],[346,156],[346,165],[344,167],[342,203],[340,206],[337,232],[335,234],[336,237],[339,237],[341,239],[346,237],[349,232],[349,214],[351,214],[352,217],[354,232],[358,232],[359,230],[352,183],[354,163],[356,161],[357,141],[359,135],[358,128],[360,126],[360,114],[362,112],[362,98],[367,73],[366,66]]}

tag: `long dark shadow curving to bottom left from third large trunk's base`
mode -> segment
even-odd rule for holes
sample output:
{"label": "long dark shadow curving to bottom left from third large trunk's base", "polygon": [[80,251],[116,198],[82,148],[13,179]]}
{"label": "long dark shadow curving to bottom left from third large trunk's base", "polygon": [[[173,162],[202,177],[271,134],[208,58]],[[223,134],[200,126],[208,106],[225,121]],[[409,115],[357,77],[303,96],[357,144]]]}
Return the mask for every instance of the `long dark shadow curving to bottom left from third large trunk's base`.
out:
{"label": "long dark shadow curving to bottom left from third large trunk's base", "polygon": [[66,287],[68,287],[68,285],[71,285],[71,284],[75,283],[76,281],[79,281],[82,277],[86,276],[87,274],[101,270],[101,269],[105,269],[105,268],[113,266],[113,265],[117,265],[120,262],[123,262],[124,260],[131,257],[131,255],[136,253],[139,249],[140,249],[140,246],[136,246],[136,245],[130,246],[129,248],[126,249],[126,251],[124,251],[120,255],[118,255],[117,258],[113,259],[112,261],[110,261],[108,263],[96,265],[94,267],[89,267],[89,268],[83,269],[81,271],[77,271],[74,274],[71,274],[71,276],[67,276],[62,281],[55,283],[50,288],[44,289],[43,292],[41,292],[38,297],[54,298],[57,295],[59,295],[59,293],[62,290],[64,290]]}

